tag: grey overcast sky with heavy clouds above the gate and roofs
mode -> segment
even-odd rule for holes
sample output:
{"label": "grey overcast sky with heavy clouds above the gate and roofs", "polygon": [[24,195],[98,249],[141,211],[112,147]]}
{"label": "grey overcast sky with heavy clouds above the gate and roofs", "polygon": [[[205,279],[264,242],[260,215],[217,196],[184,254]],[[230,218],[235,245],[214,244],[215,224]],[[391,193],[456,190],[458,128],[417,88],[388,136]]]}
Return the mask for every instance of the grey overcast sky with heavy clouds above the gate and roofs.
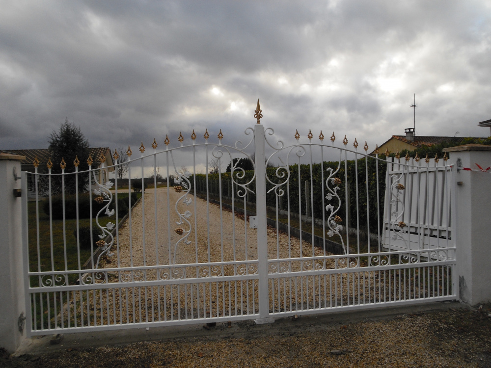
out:
{"label": "grey overcast sky with heavy clouds above the gate and roofs", "polygon": [[[356,137],[486,136],[491,2],[0,0],[0,149],[92,147],[262,123]],[[185,141],[186,142],[186,141]]]}

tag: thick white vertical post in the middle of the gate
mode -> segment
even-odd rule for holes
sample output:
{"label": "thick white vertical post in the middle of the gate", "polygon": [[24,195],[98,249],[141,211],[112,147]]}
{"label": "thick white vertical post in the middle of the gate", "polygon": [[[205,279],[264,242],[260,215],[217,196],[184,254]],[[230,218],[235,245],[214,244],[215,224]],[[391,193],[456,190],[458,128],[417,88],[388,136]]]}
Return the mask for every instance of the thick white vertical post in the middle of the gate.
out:
{"label": "thick white vertical post in the middle of the gate", "polygon": [[270,303],[268,292],[268,238],[266,232],[266,165],[264,126],[254,125],[254,147],[256,165],[256,219],[257,219],[257,259],[259,275],[259,318],[256,323],[272,323],[269,317]]}

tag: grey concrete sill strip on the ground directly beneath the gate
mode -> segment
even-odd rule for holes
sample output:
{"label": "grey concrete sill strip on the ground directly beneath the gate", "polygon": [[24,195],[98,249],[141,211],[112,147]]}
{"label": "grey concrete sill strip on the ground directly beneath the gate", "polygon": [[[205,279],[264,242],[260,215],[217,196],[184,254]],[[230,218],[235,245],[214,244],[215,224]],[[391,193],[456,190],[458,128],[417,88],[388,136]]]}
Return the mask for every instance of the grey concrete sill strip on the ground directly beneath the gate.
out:
{"label": "grey concrete sill strip on the ground directly beneath the gate", "polygon": [[[33,337],[24,340],[15,352],[15,356],[22,354],[41,354],[73,348],[98,347],[104,345],[122,345],[143,341],[162,341],[178,338],[219,337],[234,338],[254,336],[271,336],[288,334],[292,329],[336,328],[340,325],[355,323],[363,320],[382,320],[396,315],[413,314],[418,312],[442,311],[450,308],[467,308],[468,305],[460,302],[434,302],[419,305],[408,305],[390,308],[376,308],[370,310],[346,311],[326,313],[319,315],[299,315],[299,318],[277,318],[275,323],[256,324],[254,320],[237,321],[229,328],[226,322],[217,323],[209,330],[203,324],[112,330],[104,332],[83,332],[65,334],[59,344],[52,344],[54,335]],[[269,318],[263,318],[269,319]],[[272,318],[273,319],[273,318]]]}

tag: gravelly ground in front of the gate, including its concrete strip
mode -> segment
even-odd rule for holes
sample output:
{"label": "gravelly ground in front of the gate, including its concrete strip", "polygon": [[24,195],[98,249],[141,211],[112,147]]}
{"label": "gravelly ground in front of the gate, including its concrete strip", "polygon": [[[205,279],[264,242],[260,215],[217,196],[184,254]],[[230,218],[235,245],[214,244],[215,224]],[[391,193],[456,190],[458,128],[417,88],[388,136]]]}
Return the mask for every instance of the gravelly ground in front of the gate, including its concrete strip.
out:
{"label": "gravelly ground in front of the gate, including its concrete strip", "polygon": [[491,305],[428,303],[337,314],[26,341],[4,367],[490,367]]}

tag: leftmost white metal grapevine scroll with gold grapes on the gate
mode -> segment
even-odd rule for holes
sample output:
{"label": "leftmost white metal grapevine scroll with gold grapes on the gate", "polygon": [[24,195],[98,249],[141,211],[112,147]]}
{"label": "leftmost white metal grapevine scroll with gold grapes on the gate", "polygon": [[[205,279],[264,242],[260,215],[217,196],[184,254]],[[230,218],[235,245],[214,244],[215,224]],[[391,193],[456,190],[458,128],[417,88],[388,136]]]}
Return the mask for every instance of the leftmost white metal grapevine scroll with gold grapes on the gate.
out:
{"label": "leftmost white metal grapevine scroll with gold grapes on the gate", "polygon": [[[115,224],[112,222],[106,223],[106,226],[102,226],[99,222],[99,216],[101,213],[104,212],[104,214],[108,215],[108,217],[111,217],[114,215],[114,209],[109,210],[109,206],[112,203],[112,193],[110,191],[110,188],[112,187],[112,183],[108,182],[106,184],[100,184],[97,181],[97,177],[95,175],[95,172],[93,173],[94,175],[94,182],[96,184],[96,189],[94,189],[94,194],[97,196],[94,198],[94,200],[99,203],[106,203],[106,205],[97,212],[97,215],[95,217],[95,222],[99,229],[101,229],[102,234],[99,235],[99,240],[96,241],[96,245],[101,248],[101,253],[99,254],[99,257],[97,257],[97,263],[95,264],[94,268],[99,267],[99,261],[101,257],[104,254],[107,254],[109,257],[112,256],[114,253],[110,252],[112,244],[114,244],[114,237],[111,234],[112,229],[114,229]],[[109,240],[109,242],[107,241]]]}

